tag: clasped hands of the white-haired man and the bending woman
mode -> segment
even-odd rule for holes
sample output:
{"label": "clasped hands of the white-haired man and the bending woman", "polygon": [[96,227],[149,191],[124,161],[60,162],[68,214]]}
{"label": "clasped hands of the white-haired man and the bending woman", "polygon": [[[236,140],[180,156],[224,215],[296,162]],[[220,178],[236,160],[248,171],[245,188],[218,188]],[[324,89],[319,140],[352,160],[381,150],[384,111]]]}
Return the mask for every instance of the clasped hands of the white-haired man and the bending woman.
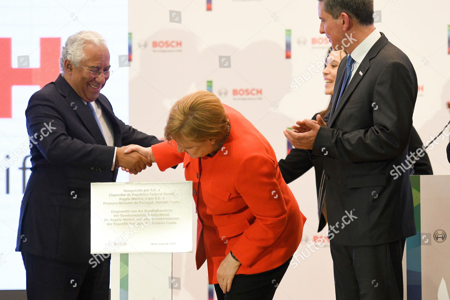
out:
{"label": "clasped hands of the white-haired man and the bending woman", "polygon": [[138,145],[128,145],[117,148],[116,152],[116,168],[122,168],[130,174],[138,174],[145,170],[147,166],[152,166],[156,162],[153,156],[152,148],[144,148]]}

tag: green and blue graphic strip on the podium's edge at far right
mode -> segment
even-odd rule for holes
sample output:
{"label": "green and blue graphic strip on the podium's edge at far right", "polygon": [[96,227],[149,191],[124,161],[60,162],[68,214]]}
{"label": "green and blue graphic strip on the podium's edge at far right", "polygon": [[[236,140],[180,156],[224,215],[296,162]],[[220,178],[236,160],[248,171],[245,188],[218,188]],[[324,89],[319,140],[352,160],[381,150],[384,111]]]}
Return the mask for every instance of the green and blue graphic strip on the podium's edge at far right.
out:
{"label": "green and blue graphic strip on the podium's edge at far right", "polygon": [[422,300],[422,256],[420,249],[420,176],[410,176],[417,234],[406,239],[406,299]]}

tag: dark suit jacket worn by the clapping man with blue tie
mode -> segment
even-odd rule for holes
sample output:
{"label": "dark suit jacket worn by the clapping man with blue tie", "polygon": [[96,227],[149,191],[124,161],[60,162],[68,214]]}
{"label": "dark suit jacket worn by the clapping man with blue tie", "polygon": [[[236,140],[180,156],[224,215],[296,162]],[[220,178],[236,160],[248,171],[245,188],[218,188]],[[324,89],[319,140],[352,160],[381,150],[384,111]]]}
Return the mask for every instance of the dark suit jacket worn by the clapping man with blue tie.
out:
{"label": "dark suit jacket worn by the clapping man with blue tie", "polygon": [[[346,63],[338,68],[333,103]],[[333,242],[377,245],[416,233],[409,172],[393,174],[406,161],[417,91],[409,58],[382,34],[332,105],[312,153],[324,157]]]}

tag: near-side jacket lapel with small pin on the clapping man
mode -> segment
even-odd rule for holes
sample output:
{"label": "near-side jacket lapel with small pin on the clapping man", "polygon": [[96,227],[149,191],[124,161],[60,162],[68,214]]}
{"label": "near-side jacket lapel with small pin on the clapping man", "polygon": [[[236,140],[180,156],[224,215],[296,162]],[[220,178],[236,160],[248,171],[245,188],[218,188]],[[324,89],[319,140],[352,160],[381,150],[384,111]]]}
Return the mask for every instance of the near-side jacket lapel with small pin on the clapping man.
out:
{"label": "near-side jacket lapel with small pin on the clapping man", "polygon": [[[380,52],[380,50],[387,44],[387,41],[388,40],[387,40],[386,36],[382,32],[381,33],[381,37],[372,46],[372,48],[370,48],[369,52],[366,54],[365,58],[360,63],[360,66],[356,70],[355,75],[351,78],[351,81],[348,84],[347,89],[344,91],[344,94],[342,94],[342,98],[341,98],[341,100],[339,100],[338,106],[336,107],[336,109],[334,110],[334,112],[333,112],[333,114],[332,114],[332,116],[330,118],[330,121],[328,123],[328,127],[331,127],[333,125],[333,122],[336,120],[336,117],[341,112],[342,107],[344,107],[344,104],[347,102],[347,100],[349,99],[350,95],[353,93],[353,91],[356,89],[356,87],[358,86],[360,81],[363,79],[363,77],[365,76],[365,74],[369,70],[370,60],[372,58],[374,58],[375,56],[377,56],[378,52]],[[344,60],[342,60],[341,63],[347,63],[347,59],[345,59],[345,62],[344,62]],[[342,86],[342,81],[343,81],[344,75],[345,75],[345,71],[341,74],[341,78],[339,80],[339,82],[340,82],[339,86]],[[340,90],[339,91],[334,91],[334,93],[336,93],[336,92],[340,92]],[[336,94],[333,94],[333,97],[335,95]],[[336,95],[336,97],[337,96],[338,95]]]}

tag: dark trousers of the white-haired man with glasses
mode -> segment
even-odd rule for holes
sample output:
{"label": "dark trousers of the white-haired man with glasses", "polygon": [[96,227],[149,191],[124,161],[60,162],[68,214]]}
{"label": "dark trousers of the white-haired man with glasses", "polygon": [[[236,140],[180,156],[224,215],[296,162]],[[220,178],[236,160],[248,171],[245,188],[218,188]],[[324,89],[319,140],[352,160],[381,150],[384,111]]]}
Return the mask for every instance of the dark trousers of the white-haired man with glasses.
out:
{"label": "dark trousers of the white-haired man with glasses", "polygon": [[[111,256],[99,264],[67,263],[23,253],[28,300],[108,300]],[[93,268],[94,266],[94,268]]]}

